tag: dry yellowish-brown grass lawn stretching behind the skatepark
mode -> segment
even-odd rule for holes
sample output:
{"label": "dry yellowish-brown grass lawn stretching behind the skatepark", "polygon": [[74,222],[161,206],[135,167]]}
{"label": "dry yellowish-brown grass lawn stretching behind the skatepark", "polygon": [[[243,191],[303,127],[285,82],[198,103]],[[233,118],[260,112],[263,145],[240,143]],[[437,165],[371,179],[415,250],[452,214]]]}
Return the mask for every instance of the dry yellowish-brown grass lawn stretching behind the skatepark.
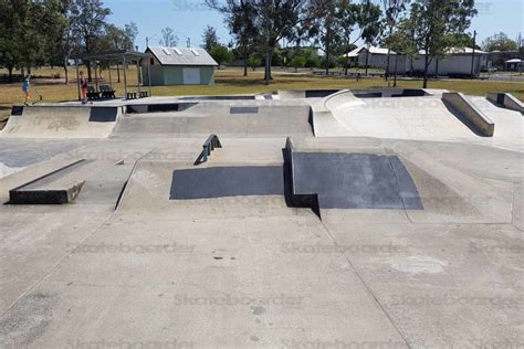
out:
{"label": "dry yellowish-brown grass lawn stretching behind the skatepark", "polygon": [[[85,71],[85,70],[84,70]],[[0,74],[3,72],[0,72]],[[41,70],[34,71],[36,76],[53,76],[63,70]],[[120,72],[122,73],[122,72]],[[70,76],[74,75],[71,70]],[[104,78],[107,82],[108,72],[104,71]],[[128,72],[128,83],[136,84],[136,70]],[[112,77],[116,80],[116,70],[112,70]],[[388,82],[382,78],[360,80],[354,78],[313,76],[307,74],[294,74],[293,70],[286,72],[275,72],[274,80],[270,85],[263,83],[263,72],[249,72],[249,76],[242,76],[241,70],[219,70],[216,74],[216,84],[213,86],[158,86],[153,87],[154,96],[177,96],[177,95],[231,95],[231,94],[252,94],[268,93],[277,89],[305,89],[305,88],[367,88],[367,87],[387,87]],[[36,91],[43,96],[44,102],[62,102],[76,99],[76,83],[69,85],[59,83],[56,80],[35,80],[32,86],[32,101],[38,101]],[[392,84],[392,83],[391,83]],[[399,81],[398,87],[420,88],[421,81]],[[117,95],[123,94],[124,84],[113,84],[117,89]],[[490,82],[490,81],[467,81],[467,80],[439,80],[430,81],[429,88],[444,88],[450,91],[463,92],[470,95],[485,96],[488,92],[509,92],[521,101],[524,101],[523,82]],[[135,89],[134,87],[130,88]],[[21,84],[0,84],[0,123],[10,115],[11,106],[20,105],[23,102]],[[0,128],[2,125],[0,125]]]}

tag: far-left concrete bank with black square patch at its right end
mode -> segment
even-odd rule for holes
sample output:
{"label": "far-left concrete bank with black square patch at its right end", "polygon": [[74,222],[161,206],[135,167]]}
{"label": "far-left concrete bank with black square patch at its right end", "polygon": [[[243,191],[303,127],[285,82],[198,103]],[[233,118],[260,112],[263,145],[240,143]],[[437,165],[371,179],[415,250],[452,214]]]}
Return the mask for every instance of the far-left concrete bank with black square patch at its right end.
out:
{"label": "far-left concrete bank with black square patch at its right end", "polygon": [[118,107],[24,106],[14,107],[0,137],[4,138],[107,138],[120,114]]}

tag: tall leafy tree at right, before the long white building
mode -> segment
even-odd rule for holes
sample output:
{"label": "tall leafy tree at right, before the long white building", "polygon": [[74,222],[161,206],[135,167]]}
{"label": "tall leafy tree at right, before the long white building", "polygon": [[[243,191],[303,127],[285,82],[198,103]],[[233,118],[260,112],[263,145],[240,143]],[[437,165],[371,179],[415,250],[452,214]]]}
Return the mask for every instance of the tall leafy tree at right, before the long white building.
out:
{"label": "tall leafy tree at right, before the long white building", "polygon": [[423,88],[428,87],[428,68],[434,59],[446,56],[458,44],[460,33],[476,14],[474,0],[427,0],[411,4],[407,25],[418,50],[425,53]]}

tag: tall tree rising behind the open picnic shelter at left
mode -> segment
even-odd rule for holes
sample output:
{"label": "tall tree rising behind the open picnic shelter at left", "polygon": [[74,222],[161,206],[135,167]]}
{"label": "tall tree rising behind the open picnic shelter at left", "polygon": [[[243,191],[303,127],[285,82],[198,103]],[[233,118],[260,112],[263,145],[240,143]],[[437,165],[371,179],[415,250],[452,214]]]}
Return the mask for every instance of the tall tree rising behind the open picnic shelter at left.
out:
{"label": "tall tree rising behind the open picnic shelter at left", "polygon": [[[92,52],[95,41],[103,34],[105,20],[111,13],[101,0],[72,0],[71,30],[81,40],[86,53]],[[92,81],[90,62],[87,76]]]}

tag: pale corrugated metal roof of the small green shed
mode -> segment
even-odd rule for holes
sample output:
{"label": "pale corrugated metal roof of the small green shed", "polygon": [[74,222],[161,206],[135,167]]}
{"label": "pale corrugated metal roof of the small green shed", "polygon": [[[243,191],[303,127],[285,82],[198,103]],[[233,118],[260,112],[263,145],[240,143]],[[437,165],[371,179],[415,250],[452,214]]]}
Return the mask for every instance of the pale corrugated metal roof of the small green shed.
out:
{"label": "pale corrugated metal roof of the small green shed", "polygon": [[211,55],[200,47],[149,46],[147,50],[153,52],[161,65],[218,65]]}

